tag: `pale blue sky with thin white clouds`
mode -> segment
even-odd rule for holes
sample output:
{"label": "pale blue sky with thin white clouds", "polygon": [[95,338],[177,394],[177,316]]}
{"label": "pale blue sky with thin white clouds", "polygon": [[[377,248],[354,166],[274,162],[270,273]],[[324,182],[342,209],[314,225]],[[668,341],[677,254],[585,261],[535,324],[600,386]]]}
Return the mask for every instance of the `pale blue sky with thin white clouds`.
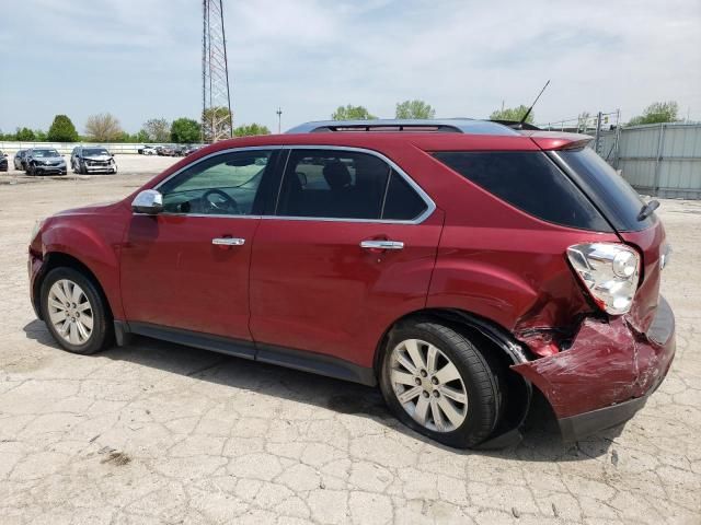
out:
{"label": "pale blue sky with thin white clouds", "polygon": [[[225,0],[234,125],[283,131],[345,104],[392,118],[421,98],[437,117],[529,105],[537,122],[655,101],[701,120],[701,0]],[[79,131],[108,112],[198,119],[202,1],[1,0],[0,130]]]}

